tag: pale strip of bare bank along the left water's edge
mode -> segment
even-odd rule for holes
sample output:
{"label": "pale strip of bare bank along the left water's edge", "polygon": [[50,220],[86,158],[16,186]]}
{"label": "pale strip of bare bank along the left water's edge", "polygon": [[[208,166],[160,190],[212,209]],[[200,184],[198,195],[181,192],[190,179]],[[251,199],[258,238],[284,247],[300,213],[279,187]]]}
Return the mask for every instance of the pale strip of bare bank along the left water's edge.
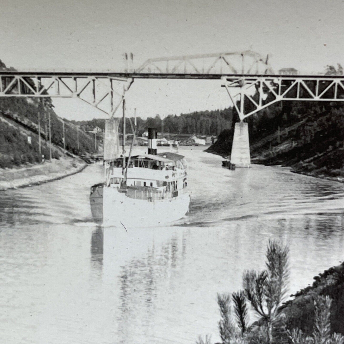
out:
{"label": "pale strip of bare bank along the left water's edge", "polygon": [[61,157],[42,164],[0,169],[0,191],[39,185],[81,172],[87,163],[79,158]]}

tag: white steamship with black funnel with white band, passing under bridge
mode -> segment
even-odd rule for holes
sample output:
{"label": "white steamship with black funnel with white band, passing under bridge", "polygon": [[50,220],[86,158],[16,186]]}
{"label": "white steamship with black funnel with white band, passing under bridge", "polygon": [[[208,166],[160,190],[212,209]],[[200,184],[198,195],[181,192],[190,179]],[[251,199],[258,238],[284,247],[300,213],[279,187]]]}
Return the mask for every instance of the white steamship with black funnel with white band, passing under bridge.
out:
{"label": "white steamship with black funnel with white band, passing under bridge", "polygon": [[[114,140],[116,135],[112,135],[112,142],[107,144],[111,136],[107,134],[109,123],[106,122],[105,130],[105,182],[93,185],[90,193],[94,220],[104,226],[158,226],[185,216],[190,195],[184,156],[172,152],[157,154],[157,131],[149,128],[148,154],[131,156],[131,145],[126,157],[123,135],[123,154],[114,158],[118,154],[113,154],[112,147],[118,138]],[[114,124],[108,127],[113,129]]]}

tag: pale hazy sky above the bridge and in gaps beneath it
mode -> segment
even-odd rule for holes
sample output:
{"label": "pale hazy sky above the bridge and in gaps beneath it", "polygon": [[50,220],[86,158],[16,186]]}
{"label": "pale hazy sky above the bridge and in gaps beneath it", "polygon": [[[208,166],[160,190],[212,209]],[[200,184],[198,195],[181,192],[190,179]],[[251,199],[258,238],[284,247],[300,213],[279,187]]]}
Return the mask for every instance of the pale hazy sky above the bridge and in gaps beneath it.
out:
{"label": "pale hazy sky above the bridge and in gaps beneath it", "polygon": [[[16,69],[122,70],[147,58],[254,50],[274,70],[344,65],[344,1],[1,0],[0,59]],[[219,82],[135,80],[127,111],[143,118],[231,105]],[[79,99],[54,99],[68,119],[104,117]]]}

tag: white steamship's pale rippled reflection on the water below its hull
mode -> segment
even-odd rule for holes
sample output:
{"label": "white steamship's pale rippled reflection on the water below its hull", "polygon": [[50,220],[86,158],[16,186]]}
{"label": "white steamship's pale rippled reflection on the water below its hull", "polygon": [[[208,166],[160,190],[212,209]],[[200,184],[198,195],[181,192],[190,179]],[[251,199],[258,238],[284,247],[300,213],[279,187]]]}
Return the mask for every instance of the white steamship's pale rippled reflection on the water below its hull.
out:
{"label": "white steamship's pale rippled reflection on the water below its hull", "polygon": [[145,343],[142,336],[152,338],[158,334],[156,339],[163,342],[160,331],[172,311],[166,309],[166,314],[157,317],[161,282],[166,301],[171,302],[178,270],[185,264],[187,232],[168,227],[164,231],[131,229],[130,233],[114,227],[97,227],[92,232],[94,276],[101,271],[103,283],[111,286],[117,298],[117,309],[108,316],[118,326],[118,343]]}

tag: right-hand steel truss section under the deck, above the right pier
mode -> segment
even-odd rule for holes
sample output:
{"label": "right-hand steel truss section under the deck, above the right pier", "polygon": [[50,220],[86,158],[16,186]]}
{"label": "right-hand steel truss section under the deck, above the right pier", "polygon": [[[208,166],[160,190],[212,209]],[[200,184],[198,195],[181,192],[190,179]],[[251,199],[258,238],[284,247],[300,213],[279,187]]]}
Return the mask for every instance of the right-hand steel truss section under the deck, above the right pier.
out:
{"label": "right-hand steel truss section under the deck, above the right pier", "polygon": [[282,100],[344,101],[344,76],[223,76],[240,121]]}

